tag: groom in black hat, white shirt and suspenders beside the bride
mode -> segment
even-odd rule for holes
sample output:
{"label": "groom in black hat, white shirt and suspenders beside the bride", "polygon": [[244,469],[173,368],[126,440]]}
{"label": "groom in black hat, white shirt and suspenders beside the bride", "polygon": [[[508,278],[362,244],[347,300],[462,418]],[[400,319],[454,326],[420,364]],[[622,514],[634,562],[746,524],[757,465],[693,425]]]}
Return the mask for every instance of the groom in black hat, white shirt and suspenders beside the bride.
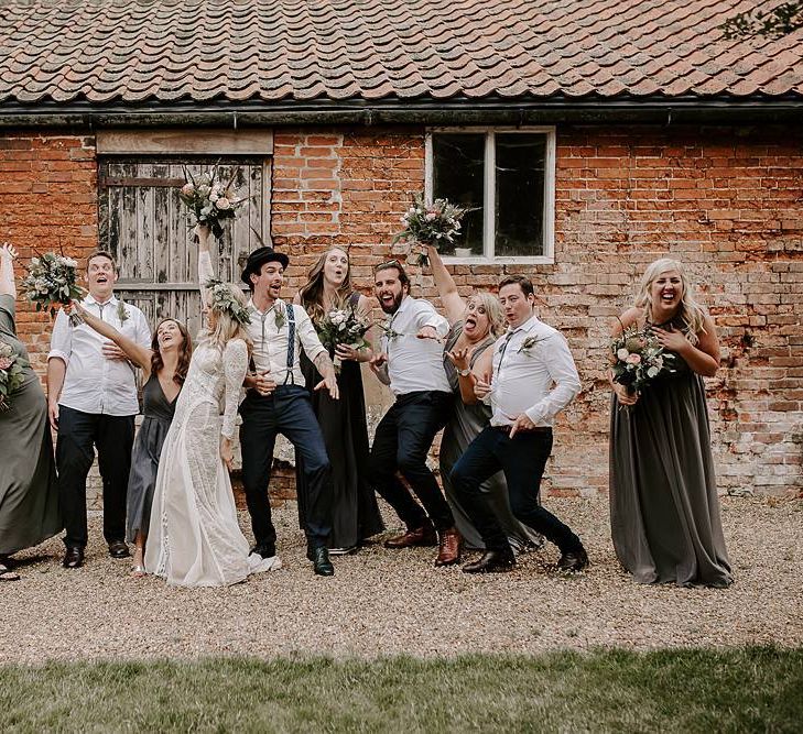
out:
{"label": "groom in black hat, white shirt and suspenders beside the bride", "polygon": [[301,306],[279,296],[287,256],[259,248],[249,256],[242,280],[251,291],[248,331],[253,340],[248,393],[240,405],[242,426],[242,484],[251,515],[256,545],[263,558],[276,554],[276,530],[271,521],[268,483],[276,435],[283,434],[304,460],[307,558],[315,573],[333,576],[326,541],[332,528],[332,470],[321,427],[305,388],[299,358],[303,349],[323,380],[315,390],[328,390],[337,399],[337,377],[326,348]]}

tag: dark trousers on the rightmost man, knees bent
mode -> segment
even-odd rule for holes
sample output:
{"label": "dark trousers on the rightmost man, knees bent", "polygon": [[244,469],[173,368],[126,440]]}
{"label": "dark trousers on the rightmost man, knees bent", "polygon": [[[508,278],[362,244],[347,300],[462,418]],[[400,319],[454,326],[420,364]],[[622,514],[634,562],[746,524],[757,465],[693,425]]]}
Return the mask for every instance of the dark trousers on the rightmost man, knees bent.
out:
{"label": "dark trousers on the rightmost man, knees bent", "polygon": [[504,472],[513,515],[552,540],[562,552],[578,550],[580,539],[539,504],[541,476],[552,451],[552,430],[523,431],[510,438],[488,426],[452,469],[452,483],[488,550],[510,550],[507,535],[479,485]]}

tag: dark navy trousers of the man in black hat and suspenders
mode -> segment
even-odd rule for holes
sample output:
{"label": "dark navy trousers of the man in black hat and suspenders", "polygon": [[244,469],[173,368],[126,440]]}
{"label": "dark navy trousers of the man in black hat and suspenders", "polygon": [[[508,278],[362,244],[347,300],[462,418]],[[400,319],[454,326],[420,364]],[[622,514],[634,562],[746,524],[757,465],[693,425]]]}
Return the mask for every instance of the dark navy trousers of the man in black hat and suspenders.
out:
{"label": "dark navy trousers of the man in black hat and suspenders", "polygon": [[310,393],[299,385],[279,385],[267,396],[252,390],[240,405],[240,415],[242,485],[257,546],[270,555],[275,552],[276,530],[271,519],[268,483],[279,434],[287,438],[304,461],[304,532],[311,545],[326,545],[332,530],[332,468]]}

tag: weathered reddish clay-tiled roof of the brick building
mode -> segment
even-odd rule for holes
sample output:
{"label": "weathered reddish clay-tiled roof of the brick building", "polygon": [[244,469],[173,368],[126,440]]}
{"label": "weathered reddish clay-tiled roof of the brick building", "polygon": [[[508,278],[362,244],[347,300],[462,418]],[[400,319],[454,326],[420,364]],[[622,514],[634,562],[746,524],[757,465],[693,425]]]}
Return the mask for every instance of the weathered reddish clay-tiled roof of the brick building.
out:
{"label": "weathered reddish clay-tiled roof of the brick building", "polygon": [[803,94],[760,0],[0,0],[0,101],[290,102]]}

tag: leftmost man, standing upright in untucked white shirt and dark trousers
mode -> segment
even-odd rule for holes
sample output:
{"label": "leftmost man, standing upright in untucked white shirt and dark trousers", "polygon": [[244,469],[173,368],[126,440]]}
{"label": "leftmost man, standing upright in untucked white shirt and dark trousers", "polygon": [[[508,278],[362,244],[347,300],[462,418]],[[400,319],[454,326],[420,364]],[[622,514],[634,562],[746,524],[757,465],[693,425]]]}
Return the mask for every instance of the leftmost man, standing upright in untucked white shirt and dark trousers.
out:
{"label": "leftmost man, standing upright in untucked white shirt and dark trousers", "polygon": [[[145,349],[151,330],[142,311],[115,297],[118,272],[108,252],[87,260],[89,289],[82,306]],[[126,495],[131,467],[137,376],[122,350],[85,324],[73,327],[64,309],[56,316],[47,355],[47,407],[58,431],[56,468],[66,534],[65,568],[84,563],[87,544],[86,478],[98,451],[104,484],[104,537],[112,558],[129,555]]]}

